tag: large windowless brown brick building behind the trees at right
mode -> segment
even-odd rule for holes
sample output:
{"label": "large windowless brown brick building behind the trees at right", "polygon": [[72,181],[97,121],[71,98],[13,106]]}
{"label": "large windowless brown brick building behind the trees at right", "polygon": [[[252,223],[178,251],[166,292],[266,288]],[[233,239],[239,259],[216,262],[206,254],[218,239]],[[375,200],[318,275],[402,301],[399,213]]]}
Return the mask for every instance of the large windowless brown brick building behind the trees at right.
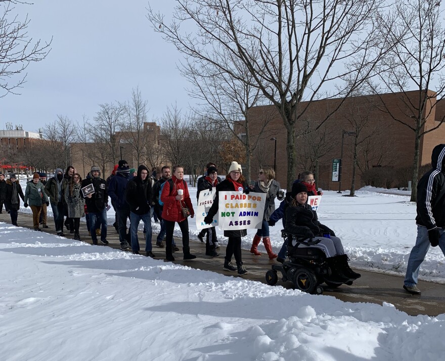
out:
{"label": "large windowless brown brick building behind the trees at right", "polygon": [[[432,94],[432,92],[429,92]],[[344,101],[339,110],[320,125],[327,114],[339,106],[339,99],[325,99],[303,103],[307,111],[297,123],[297,174],[305,170],[318,173],[317,187],[326,190],[338,190],[338,182],[332,180],[333,159],[339,159],[342,137],[343,167],[341,189],[347,190],[352,180],[352,156],[355,136],[358,134],[358,167],[355,189],[365,184],[361,174],[372,167],[404,168],[413,165],[415,132],[408,126],[393,119],[396,117],[414,125],[410,114],[415,110],[407,104],[418,103],[419,92],[392,93],[378,96],[351,97]],[[416,103],[417,101],[417,103]],[[433,100],[435,101],[435,100]],[[385,108],[386,107],[386,108]],[[384,109],[389,110],[383,111]],[[282,187],[286,187],[287,153],[286,128],[280,115],[275,111],[268,126],[258,133],[264,122],[264,114],[275,111],[273,106],[254,107],[249,113],[251,137],[260,137],[252,159],[252,178],[261,166],[274,166],[274,146],[277,147],[276,178]],[[424,130],[439,124],[445,115],[445,102],[437,101],[436,106],[427,107],[424,112],[426,123]],[[320,125],[320,127],[319,127]],[[317,127],[318,130],[313,131]],[[344,135],[343,135],[344,134]],[[276,142],[271,140],[276,138]],[[435,145],[445,142],[445,125],[426,133],[420,142],[420,165],[431,162],[431,151]],[[317,150],[318,156],[314,156]],[[317,172],[318,170],[318,172]],[[296,175],[297,175],[296,174]],[[295,176],[296,176],[295,175]],[[406,185],[408,186],[408,185]]]}

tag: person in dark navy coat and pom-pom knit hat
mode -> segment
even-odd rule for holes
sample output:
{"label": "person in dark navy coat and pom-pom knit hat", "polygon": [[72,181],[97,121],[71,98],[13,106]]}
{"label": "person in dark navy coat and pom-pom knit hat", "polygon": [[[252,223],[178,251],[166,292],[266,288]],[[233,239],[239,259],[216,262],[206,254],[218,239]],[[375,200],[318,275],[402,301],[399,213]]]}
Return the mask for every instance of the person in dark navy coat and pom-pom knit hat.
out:
{"label": "person in dark navy coat and pom-pom knit hat", "polygon": [[116,174],[110,178],[108,185],[108,195],[111,198],[114,210],[117,215],[119,230],[120,248],[122,250],[130,249],[130,245],[125,240],[127,231],[127,218],[130,216],[130,206],[125,200],[125,190],[128,185],[128,175],[130,168],[126,160],[119,160]]}

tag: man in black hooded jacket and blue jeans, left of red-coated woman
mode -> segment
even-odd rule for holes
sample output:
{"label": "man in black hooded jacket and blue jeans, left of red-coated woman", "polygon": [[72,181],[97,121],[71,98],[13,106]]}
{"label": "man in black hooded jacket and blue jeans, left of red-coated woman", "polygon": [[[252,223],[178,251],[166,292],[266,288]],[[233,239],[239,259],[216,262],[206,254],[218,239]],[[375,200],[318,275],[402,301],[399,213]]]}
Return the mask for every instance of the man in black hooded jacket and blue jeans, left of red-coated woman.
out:
{"label": "man in black hooded jacket and blue jeans, left of red-coated woman", "polygon": [[131,229],[131,249],[134,254],[139,254],[138,226],[142,219],[146,229],[145,252],[147,257],[154,258],[152,252],[151,238],[151,217],[150,208],[153,200],[151,179],[148,177],[148,168],[141,164],[138,168],[138,175],[128,182],[125,199],[130,206],[130,229]]}

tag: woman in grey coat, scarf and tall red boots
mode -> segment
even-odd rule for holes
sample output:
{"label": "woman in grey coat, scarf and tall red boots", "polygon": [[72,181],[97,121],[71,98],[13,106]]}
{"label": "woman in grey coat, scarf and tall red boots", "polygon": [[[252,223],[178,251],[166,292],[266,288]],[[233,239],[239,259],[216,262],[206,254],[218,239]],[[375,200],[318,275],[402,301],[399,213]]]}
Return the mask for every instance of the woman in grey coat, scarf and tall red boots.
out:
{"label": "woman in grey coat, scarf and tall red boots", "polygon": [[269,217],[275,211],[275,198],[279,201],[284,198],[284,191],[280,190],[280,184],[275,180],[275,170],[271,167],[263,167],[258,173],[258,180],[255,183],[254,192],[266,194],[266,204],[264,206],[264,216],[262,219],[262,227],[256,232],[253,237],[252,247],[250,253],[255,256],[260,256],[258,252],[258,244],[264,244],[264,248],[268,252],[269,259],[277,258],[277,255],[272,251],[271,238],[269,237]]}

